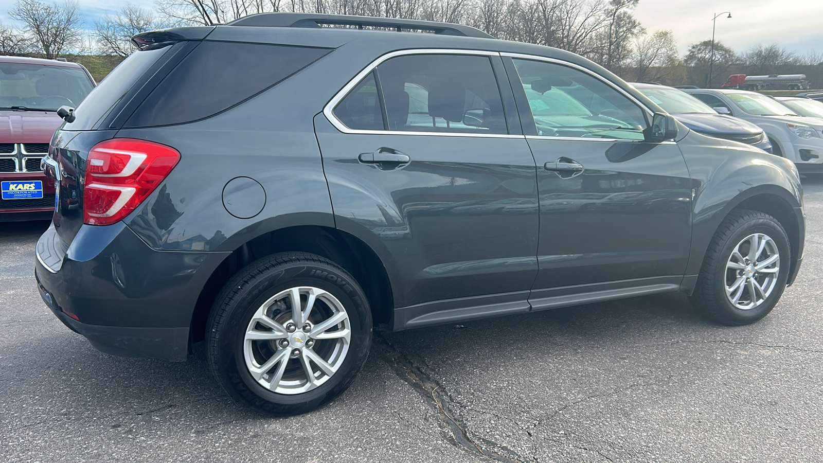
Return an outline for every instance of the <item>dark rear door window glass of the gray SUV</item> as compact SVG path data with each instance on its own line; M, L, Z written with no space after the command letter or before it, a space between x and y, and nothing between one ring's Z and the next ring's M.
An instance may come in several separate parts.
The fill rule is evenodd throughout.
M378 83L379 96L370 87ZM378 106L374 106L378 105ZM353 109L359 110L358 119ZM383 112L384 110L384 112ZM411 54L388 59L334 109L350 129L398 132L508 133L488 56ZM385 121L383 120L385 118Z

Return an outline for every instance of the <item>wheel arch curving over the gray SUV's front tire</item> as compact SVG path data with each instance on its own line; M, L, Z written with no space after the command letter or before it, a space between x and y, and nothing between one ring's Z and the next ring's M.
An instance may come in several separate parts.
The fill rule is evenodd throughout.
M686 275L696 275L700 273L706 250L709 243L717 233L723 220L732 211L737 209L749 209L767 213L774 217L788 235L789 245L792 252L792 267L797 265L797 253L802 249L800 224L797 222L797 215L794 208L799 208L800 203L788 189L779 185L757 185L737 194L723 208L716 212L708 212L707 217L701 219L695 217L693 222L692 246L690 259ZM706 208L709 209L709 208ZM701 223L703 222L703 223ZM793 273L790 273L793 274ZM688 289L690 291L690 288Z

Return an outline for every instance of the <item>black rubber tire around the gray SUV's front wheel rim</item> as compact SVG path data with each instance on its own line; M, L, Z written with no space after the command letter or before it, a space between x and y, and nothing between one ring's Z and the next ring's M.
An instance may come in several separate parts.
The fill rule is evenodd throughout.
M726 265L732 251L746 236L764 233L777 246L779 271L774 289L759 306L743 310L729 301L726 295L728 278ZM791 248L788 236L780 223L769 214L750 210L732 211L714 234L700 269L695 292L691 302L695 310L721 325L748 325L765 317L777 304L786 288L788 267L791 262ZM733 274L732 274L733 279Z

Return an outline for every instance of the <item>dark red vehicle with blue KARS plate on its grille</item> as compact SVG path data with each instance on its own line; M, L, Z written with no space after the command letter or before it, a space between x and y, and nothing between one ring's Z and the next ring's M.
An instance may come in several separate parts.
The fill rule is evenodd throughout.
M0 56L0 222L48 219L53 180L40 168L60 106L77 107L95 87L78 63Z

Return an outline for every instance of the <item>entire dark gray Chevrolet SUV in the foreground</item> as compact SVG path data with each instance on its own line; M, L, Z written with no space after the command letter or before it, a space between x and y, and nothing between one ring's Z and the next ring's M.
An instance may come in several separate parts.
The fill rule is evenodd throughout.
M800 266L791 161L691 132L577 55L282 13L133 40L60 111L40 294L106 353L205 341L254 409L332 400L374 326L677 291L744 325Z

